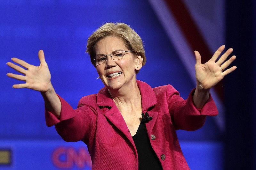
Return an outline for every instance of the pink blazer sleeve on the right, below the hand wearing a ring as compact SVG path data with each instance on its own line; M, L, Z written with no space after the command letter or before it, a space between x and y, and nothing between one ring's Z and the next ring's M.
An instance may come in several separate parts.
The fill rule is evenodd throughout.
M188 99L184 100L171 85L166 86L168 108L176 129L196 130L204 125L206 116L218 115L218 109L211 94L204 106L198 109L193 101L194 92L195 89L190 92Z

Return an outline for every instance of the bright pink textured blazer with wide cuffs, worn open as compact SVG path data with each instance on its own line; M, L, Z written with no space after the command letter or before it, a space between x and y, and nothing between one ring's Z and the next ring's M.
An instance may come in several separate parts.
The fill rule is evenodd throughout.
M206 115L217 115L212 97L202 109L197 109L193 104L194 90L187 100L183 100L171 85L152 89L145 82L137 80L137 84L142 111L153 118L146 123L146 128L163 169L189 169L175 130L199 129L204 125ZM46 110L46 124L55 125L65 141L82 140L91 155L92 170L138 169L138 154L132 136L106 87L98 94L83 97L75 110L61 97L60 101L60 120Z

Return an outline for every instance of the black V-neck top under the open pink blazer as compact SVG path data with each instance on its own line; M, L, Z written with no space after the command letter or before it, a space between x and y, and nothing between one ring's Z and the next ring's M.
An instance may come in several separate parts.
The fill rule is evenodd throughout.
M132 139L138 152L139 170L163 170L160 160L157 158L148 139L146 124L144 122L140 122L140 126Z

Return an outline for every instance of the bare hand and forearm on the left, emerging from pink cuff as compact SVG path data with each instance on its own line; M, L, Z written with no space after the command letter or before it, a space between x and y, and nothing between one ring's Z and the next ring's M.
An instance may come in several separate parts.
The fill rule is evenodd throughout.
M47 63L45 62L43 50L38 52L38 57L40 60L39 66L28 64L18 58L12 58L14 63L20 64L25 69L14 63L8 62L8 66L23 75L7 73L7 76L26 82L23 84L13 85L13 88L28 88L41 92L44 98L45 107L60 118L61 102L52 86L51 74Z

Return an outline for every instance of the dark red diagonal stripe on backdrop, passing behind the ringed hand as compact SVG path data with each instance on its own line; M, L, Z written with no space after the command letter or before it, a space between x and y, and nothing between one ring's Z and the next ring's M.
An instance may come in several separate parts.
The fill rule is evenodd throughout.
M190 48L199 51L202 63L206 63L212 57L212 52L204 41L185 4L182 0L165 0L165 2L180 26L183 35L186 37ZM223 100L222 81L215 85L214 89L220 99Z

